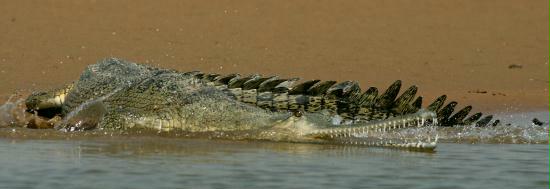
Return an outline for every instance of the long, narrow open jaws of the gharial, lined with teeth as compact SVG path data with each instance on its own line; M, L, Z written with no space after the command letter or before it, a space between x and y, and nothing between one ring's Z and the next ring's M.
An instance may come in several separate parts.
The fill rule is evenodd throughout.
M438 140L436 125L434 112L419 111L362 124L302 129L302 136L319 139L319 143L433 151Z

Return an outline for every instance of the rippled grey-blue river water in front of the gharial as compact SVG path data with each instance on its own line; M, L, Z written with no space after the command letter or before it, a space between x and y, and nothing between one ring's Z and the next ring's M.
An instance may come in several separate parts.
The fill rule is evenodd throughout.
M548 188L544 144L435 153L162 137L0 139L0 188Z

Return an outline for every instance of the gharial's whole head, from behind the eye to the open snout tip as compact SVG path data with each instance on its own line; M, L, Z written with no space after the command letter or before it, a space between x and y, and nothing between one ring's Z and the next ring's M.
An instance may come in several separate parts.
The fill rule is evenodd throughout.
M318 115L292 116L261 132L261 139L405 148L432 151L437 145L437 115L421 110L368 123L331 125Z

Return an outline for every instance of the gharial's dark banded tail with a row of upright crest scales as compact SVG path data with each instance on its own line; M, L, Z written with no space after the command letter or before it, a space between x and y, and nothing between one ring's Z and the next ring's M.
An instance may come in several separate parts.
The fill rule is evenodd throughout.
M319 112L326 110L332 114L338 114L346 120L369 121L415 113L422 108L422 97L415 98L418 91L417 86L410 86L399 95L402 86L400 80L392 83L378 95L376 87L370 87L362 93L356 81L338 83L330 80L306 80L298 82L299 78L281 79L277 76L263 77L259 74L244 77L239 74L225 76L207 74L197 78L224 90L236 100L273 111ZM446 98L446 95L442 95L426 107L426 109L437 113L440 124L453 126L476 123L478 126L485 126L491 121L491 119L488 121L485 119L478 123L481 115L477 114L466 118L472 109L471 106L453 114L457 103L451 102L445 105Z

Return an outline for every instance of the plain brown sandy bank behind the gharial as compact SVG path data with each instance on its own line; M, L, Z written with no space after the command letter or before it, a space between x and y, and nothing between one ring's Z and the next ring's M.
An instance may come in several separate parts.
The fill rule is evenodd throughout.
M401 79L474 110L549 108L546 0L44 0L0 11L0 103L120 57L364 88Z

